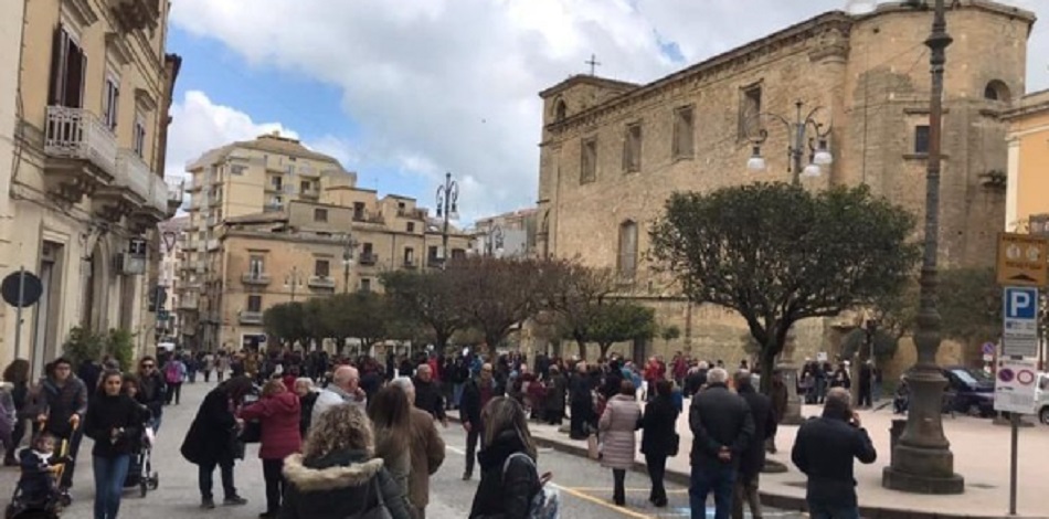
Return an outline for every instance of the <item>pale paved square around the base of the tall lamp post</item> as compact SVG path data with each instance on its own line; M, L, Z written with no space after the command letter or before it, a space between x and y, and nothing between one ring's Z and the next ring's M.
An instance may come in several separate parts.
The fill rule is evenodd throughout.
M688 405L689 401L686 401ZM819 406L806 405L806 416L820 412ZM453 413L454 414L454 413ZM878 460L871 465L856 464L857 491L860 512L865 518L1006 518L1009 506L1009 427L994 425L990 420L944 416L943 424L954 453L954 469L965 477L965 492L957 496L926 496L888 490L881 486L882 469L889 465L889 426L894 417L889 409L860 412L878 449ZM558 427L531 423L537 442L586 456L586 442L570 439ZM667 460L667 477L687 481L688 454L692 434L688 427L688 410L678 419L681 452ZM790 467L784 474L762 474L762 500L777 508L805 508L805 476L791 463L791 447L797 426L780 426L776 435L778 453L771 459ZM638 432L638 445L640 432ZM1020 428L1017 511L1025 518L1049 518L1046 495L1049 486L1049 427L1036 425ZM593 462L597 463L597 462ZM644 470L644 456L636 463Z

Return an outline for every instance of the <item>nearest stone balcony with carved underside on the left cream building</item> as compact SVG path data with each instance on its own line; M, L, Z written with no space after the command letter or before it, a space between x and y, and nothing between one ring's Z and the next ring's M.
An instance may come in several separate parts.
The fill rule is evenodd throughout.
M47 191L65 202L80 203L116 176L116 138L83 108L47 107L44 153Z

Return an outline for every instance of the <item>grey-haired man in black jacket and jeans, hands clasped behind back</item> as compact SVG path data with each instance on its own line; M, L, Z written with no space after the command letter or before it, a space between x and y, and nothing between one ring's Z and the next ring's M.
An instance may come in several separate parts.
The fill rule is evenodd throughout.
M714 368L707 389L692 396L692 474L688 489L692 517L706 517L707 495L714 494L714 519L728 519L740 459L754 437L754 417L742 396L729 391L729 373Z

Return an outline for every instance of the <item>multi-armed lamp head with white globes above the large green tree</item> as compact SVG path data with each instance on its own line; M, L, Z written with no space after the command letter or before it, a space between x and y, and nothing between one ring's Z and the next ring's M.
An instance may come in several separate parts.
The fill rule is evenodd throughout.
M802 183L802 177L819 177L820 167L830 166L834 162L834 156L830 155L830 148L828 146L831 128L828 125L827 129L824 130L824 124L816 120L816 114L823 108L817 106L809 112L808 115L804 115L804 103L798 100L794 106L797 108L794 123L787 120L786 117L772 113L757 114L756 118L759 121L762 117L778 120L786 126L788 135L792 135L793 140L790 146L787 146L787 156L791 159L787 166L787 172L793 173L794 184L798 186ZM809 129L813 130L815 137L808 137ZM750 160L746 161L746 169L751 171L765 170L766 165L764 157L761 155L761 147L767 139L769 131L764 128L759 128L757 135L751 138L751 142L754 145L754 151ZM808 148L809 160L807 166L802 166L805 159L806 148Z

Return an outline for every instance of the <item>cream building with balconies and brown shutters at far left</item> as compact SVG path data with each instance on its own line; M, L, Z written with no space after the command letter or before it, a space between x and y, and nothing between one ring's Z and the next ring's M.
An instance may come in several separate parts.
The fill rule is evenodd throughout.
M12 19L13 4L24 12ZM162 172L180 64L165 51L168 8L167 0L33 0L0 9L4 27L17 21L23 30L21 47L4 43L0 54L0 66L17 63L14 76L0 77L17 77L19 99L13 160L0 157L13 163L0 194L10 197L0 202L3 269L24 267L43 285L23 315L21 345L7 342L15 325L7 311L0 360L30 358L39 373L74 326L125 328L142 348L151 337L145 306L159 261L156 224L181 203ZM0 88L0 106L12 95Z

